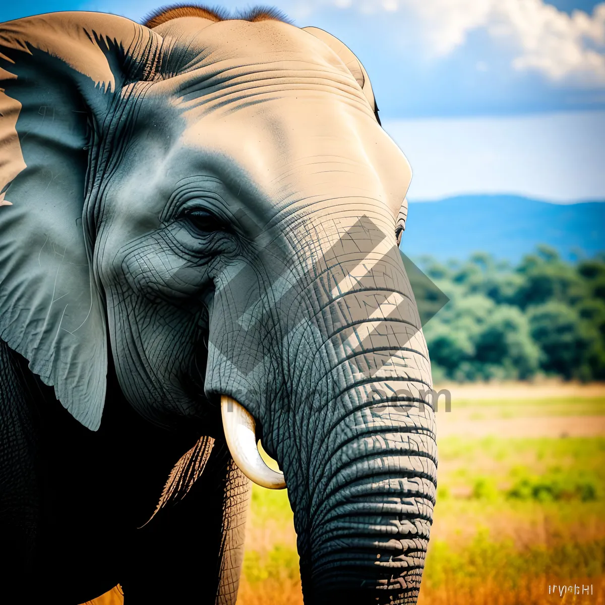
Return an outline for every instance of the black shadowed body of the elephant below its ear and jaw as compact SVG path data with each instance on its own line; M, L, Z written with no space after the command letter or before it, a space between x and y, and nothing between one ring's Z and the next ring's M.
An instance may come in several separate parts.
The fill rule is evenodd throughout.
M10 460L2 457L0 535L10 553L3 598L40 603L54 595L58 603L77 604L120 583L127 603L214 603L223 541L243 545L245 511L237 527L229 527L223 511L237 511L249 491L246 477L229 466L229 451L213 448L187 497L145 525L175 460L197 436L142 419L111 369L105 416L93 433L25 359L0 346L2 443L18 435L28 444ZM195 558L193 545L199 545ZM233 563L237 568L241 556ZM237 583L222 590L229 602Z

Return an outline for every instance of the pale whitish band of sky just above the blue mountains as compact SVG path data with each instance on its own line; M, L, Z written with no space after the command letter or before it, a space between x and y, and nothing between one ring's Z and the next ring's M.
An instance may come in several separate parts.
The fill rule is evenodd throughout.
M604 110L388 120L384 126L412 165L412 201L501 193L555 203L605 200Z

